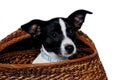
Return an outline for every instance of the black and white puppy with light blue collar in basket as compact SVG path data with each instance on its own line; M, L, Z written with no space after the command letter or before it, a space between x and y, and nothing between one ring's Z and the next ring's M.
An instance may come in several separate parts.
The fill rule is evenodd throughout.
M33 38L41 38L41 53L33 63L68 60L76 53L76 31L81 28L86 14L90 11L77 10L68 18L54 18L49 21L32 20L21 26Z

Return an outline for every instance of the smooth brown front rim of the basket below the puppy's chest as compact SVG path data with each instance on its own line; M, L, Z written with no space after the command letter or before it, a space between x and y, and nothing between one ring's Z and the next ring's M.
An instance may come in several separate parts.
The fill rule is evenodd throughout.
M83 58L78 59L72 59L72 60L66 60L62 62L51 62L51 63L37 63L37 64L0 64L0 67L3 68L26 68L26 67L42 67L42 66L54 66L54 65L61 65L66 63L74 63L74 62L82 62L84 60L89 60L97 56L97 52L94 52L92 55L85 56Z

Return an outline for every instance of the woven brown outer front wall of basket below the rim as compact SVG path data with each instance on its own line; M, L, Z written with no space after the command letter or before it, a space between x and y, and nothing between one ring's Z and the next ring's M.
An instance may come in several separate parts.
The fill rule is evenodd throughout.
M102 64L98 59L98 56L96 56L94 59L90 59L88 61L71 62L69 64L25 68L0 68L0 76L3 80L106 80L105 73L102 68Z

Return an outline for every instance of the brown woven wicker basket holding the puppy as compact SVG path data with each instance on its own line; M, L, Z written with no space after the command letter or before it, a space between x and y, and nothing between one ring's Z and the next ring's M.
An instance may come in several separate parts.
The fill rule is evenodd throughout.
M107 80L91 39L76 32L77 53L62 62L31 64L40 53L40 38L21 29L0 41L0 80Z

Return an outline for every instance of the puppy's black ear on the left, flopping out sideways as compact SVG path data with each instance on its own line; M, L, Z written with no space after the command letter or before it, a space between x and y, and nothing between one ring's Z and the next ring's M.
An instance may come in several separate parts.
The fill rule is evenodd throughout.
M44 26L44 21L32 20L21 26L22 30L31 34L32 37L37 37L41 34L42 28Z

